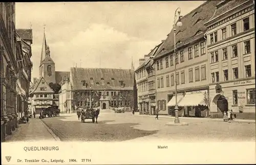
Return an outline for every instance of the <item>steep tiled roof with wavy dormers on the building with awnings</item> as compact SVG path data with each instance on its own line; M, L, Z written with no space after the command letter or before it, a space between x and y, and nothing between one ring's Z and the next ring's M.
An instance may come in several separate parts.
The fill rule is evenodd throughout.
M204 23L208 21L215 12L216 5L221 1L207 1L200 5L195 10L191 11L187 15L181 17L182 26L176 27L176 44L177 43L187 43L190 38L197 38L197 35L202 35L206 32L206 26ZM181 13L182 14L182 13ZM178 47L179 45L177 45ZM166 40L159 47L157 55L154 59L161 57L164 53L174 47L174 30L168 34ZM160 54L159 54L160 53Z

